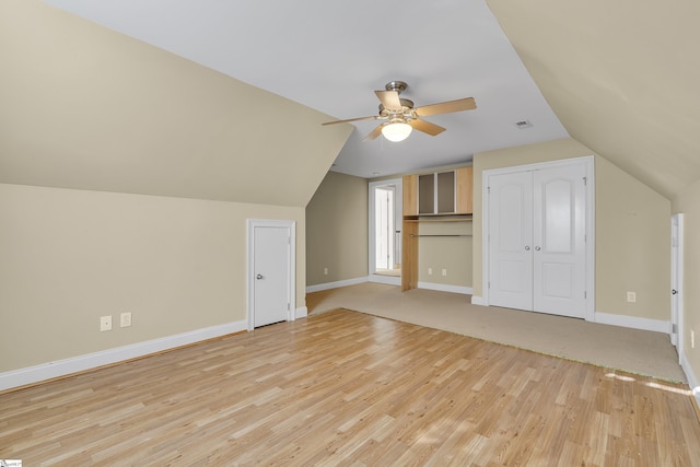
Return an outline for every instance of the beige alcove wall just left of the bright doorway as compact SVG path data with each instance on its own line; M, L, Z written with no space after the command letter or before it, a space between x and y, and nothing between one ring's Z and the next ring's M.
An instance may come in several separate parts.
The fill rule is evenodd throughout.
M306 207L306 284L368 276L368 180L328 172ZM328 275L324 275L328 268Z

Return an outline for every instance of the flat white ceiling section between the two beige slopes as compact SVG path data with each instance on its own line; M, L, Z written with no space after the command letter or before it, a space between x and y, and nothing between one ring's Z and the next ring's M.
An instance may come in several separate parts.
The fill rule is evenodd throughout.
M373 91L393 80L416 106L476 100L427 117L447 129L436 137L363 142L377 122L353 124L336 172L407 173L568 136L482 0L46 1L338 119L375 115Z

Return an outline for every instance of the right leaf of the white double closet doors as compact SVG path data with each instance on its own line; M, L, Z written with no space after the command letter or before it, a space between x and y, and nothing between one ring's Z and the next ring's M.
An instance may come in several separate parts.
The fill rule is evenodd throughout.
M583 318L586 313L583 165L535 171L534 310Z

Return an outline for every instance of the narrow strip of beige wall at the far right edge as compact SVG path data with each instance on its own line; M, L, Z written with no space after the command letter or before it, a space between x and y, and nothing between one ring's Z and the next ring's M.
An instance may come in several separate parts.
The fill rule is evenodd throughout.
M696 377L700 377L700 180L691 184L674 199L673 212L684 214L684 353ZM696 348L690 347L695 330ZM700 389L700 388L699 388ZM700 396L698 394L696 397Z

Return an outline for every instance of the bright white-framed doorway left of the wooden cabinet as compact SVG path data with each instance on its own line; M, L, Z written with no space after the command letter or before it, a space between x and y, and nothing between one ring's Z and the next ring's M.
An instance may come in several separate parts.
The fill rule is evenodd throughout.
M370 280L400 284L401 276L400 178L370 183Z

